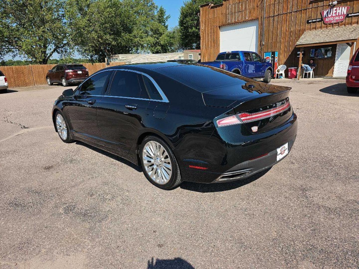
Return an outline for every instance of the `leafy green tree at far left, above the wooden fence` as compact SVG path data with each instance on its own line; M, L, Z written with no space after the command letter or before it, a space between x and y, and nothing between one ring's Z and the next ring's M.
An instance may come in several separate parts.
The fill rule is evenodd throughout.
M0 58L24 56L46 64L68 51L65 0L1 0Z

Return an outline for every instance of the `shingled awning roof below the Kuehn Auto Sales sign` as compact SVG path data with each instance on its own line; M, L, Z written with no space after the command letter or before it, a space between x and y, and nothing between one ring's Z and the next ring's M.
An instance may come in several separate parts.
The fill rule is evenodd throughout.
M295 44L296 47L308 47L320 44L355 42L359 37L359 25L306 31Z

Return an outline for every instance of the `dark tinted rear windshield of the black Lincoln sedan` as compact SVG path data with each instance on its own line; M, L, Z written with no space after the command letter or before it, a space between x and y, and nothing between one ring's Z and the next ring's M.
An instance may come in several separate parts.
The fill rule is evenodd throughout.
M202 93L232 84L241 86L245 80L231 72L200 64L166 67L155 71Z

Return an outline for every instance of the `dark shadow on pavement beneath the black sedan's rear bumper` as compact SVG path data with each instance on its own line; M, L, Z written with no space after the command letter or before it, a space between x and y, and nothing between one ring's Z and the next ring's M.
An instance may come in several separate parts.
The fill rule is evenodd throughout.
M272 167L270 167L266 170L263 170L255 175L250 176L249 178L240 179L237 181L232 181L232 182L227 182L227 183L206 184L206 183L196 183L196 182L184 181L180 185L180 188L185 189L185 190L191 190L193 192L202 192L202 193L224 192L226 190L232 190L232 189L242 187L244 185L247 185L248 183L251 183L251 182L257 180L261 176L264 176L271 168Z

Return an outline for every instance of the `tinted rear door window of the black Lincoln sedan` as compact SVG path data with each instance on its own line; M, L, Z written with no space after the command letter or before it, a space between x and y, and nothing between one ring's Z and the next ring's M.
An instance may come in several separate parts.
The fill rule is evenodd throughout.
M141 87L137 73L131 71L116 71L113 77L109 95L139 98Z

